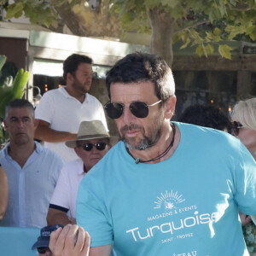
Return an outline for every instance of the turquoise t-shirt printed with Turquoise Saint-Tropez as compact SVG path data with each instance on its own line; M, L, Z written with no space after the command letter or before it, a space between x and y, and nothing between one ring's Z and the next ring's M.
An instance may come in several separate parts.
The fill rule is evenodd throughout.
M248 255L238 209L256 214L256 164L222 131L176 123L180 143L156 164L136 164L120 142L79 186L77 222L91 247L119 256Z

